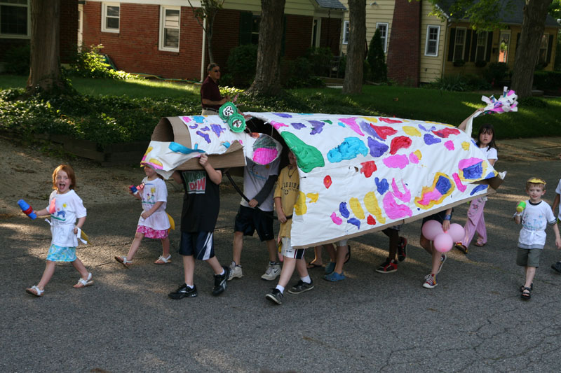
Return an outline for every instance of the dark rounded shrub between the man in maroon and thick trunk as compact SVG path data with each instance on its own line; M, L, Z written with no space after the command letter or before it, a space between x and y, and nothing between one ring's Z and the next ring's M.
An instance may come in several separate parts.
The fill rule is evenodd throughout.
M257 45L244 44L230 51L228 56L228 74L236 87L249 87L255 78L257 66Z

